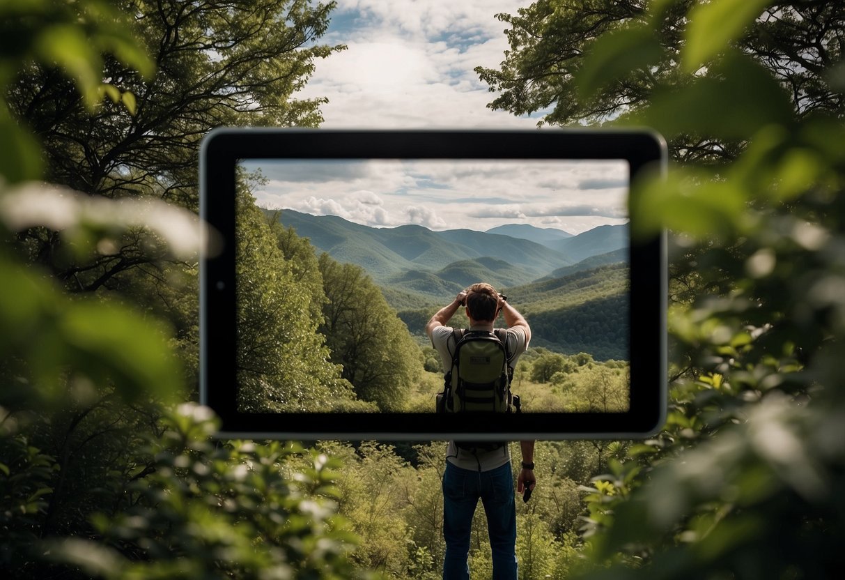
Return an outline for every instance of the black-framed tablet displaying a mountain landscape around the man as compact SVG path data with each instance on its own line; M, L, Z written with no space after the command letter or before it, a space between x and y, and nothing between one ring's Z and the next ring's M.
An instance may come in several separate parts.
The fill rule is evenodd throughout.
M666 243L632 238L629 208L666 158L649 130L210 132L200 214L223 243L200 264L199 397L218 435L654 434ZM519 412L436 411L451 361L425 326L474 282L531 326L510 387ZM466 325L462 308L447 324Z

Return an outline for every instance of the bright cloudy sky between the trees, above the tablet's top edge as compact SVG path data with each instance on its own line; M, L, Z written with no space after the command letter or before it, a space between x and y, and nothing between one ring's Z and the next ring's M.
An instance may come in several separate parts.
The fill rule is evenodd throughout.
M507 48L495 14L514 0L341 0L327 43L346 51L318 61L300 96L328 97L325 128L536 126L492 111L473 68L497 67Z

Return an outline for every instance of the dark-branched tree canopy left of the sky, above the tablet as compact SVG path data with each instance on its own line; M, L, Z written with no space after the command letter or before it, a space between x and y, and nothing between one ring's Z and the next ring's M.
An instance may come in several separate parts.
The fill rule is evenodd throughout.
M103 81L86 87L85 99L63 68L52 64L54 57L64 63L57 57L61 48L19 69L5 97L14 118L41 143L45 178L87 194L151 197L193 210L203 135L223 125L317 126L324 100L294 94L313 72L314 59L343 48L316 41L334 3L121 0L108 8L94 2L36 6L60 8L83 23L102 12L109 18L125 14L123 36L109 30L94 38L101 47L117 47L117 55L134 57L98 60L102 70L88 75ZM74 43L68 46L74 48L68 54L75 49L99 59L84 44L84 30L59 32L46 29L45 42L52 38L50 46L61 47L69 35ZM133 45L144 52L130 52ZM136 57L144 53L150 56ZM92 91L116 101L91 101ZM73 291L95 291L128 269L166 257L129 240L117 244L116 252L79 260L63 252L60 238L50 231L30 228L20 238L31 259Z

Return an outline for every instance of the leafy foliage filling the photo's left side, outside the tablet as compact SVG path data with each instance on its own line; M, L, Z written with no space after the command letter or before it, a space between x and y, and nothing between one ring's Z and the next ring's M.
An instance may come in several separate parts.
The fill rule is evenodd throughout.
M3 3L3 178L40 177L41 151L32 129L46 147L48 178L114 197L172 198L176 190L189 197L196 138L209 129L204 123L225 117L203 112L235 111L230 96L240 100L243 114L264 113L267 120L274 107L301 113L314 106L286 107L290 91L277 90L265 94L272 102L259 110L244 92L226 88L232 77L226 80L224 71L232 63L240 66L234 71L237 82L255 80L243 66L269 56L255 49L262 38L270 40L271 24L271 36L287 34L272 12L283 4L272 4L160 3L148 9L125 3L128 14L141 15L128 21L95 0ZM287 25L303 30L308 19L319 25L330 8L312 13L305 3L284 6L291 8ZM258 20L239 19L242 10ZM193 35L190 26L184 28L190 19ZM155 22L166 25L156 29ZM256 22L266 27L252 26ZM226 25L244 27L232 41L233 58L210 59L204 50L209 46L192 44ZM139 42L139 30L150 36ZM156 30L168 41L161 42ZM235 54L239 38L252 39L252 54ZM151 59L137 48L144 41L162 51L155 80L133 72L152 74ZM226 52L217 48L218 56ZM297 52L286 63L308 63L320 50ZM101 58L101 51L108 54ZM265 74L284 60L264 63L256 72ZM191 91L199 87L181 82L180 74L209 72L202 63L222 67L206 79L222 81L216 103L211 93L204 104L193 101ZM102 84L104 70L119 88ZM281 82L297 86L307 71L286 68ZM167 78L171 81L162 83ZM148 91L154 86L161 99L175 99L169 112L154 106L155 91ZM126 92L128 87L134 92ZM258 92L260 84L250 87ZM101 104L102 96L119 103ZM117 142L109 141L115 135ZM173 165L156 165L154 158ZM189 179L180 181L184 178ZM190 282L199 249L197 230L189 221L173 222L174 216L182 214L161 203L117 204L37 184L10 189L0 182L5 577L367 577L349 559L355 539L336 515L330 486L335 462L279 443L220 444L210 437L215 420L207 409L174 408L173 402L187 396L185 380L192 375L173 353L192 352L196 298ZM194 262L156 263L175 254L172 248L159 253L180 241L166 235L174 224L187 224L182 254ZM261 238L259 231L254 227L255 238ZM272 234L268 239L275 243ZM183 277L187 286L168 286ZM117 292L108 298L67 292L104 287ZM162 313L178 335L157 318Z

